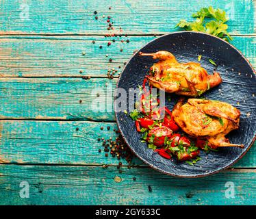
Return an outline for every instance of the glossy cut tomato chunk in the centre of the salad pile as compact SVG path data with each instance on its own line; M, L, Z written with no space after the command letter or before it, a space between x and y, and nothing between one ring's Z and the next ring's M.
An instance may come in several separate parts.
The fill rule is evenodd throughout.
M151 136L155 136L153 139L153 144L155 144L155 146L164 146L164 140L166 137L170 138L170 136L172 136L172 130L164 125L162 125L162 127L153 127L153 129L149 131L146 140L151 140Z

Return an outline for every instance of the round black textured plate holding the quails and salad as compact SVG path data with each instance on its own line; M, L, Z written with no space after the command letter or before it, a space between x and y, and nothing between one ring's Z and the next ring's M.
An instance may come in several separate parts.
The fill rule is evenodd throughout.
M180 31L167 34L156 38L140 49L144 53L154 53L160 50L170 51L179 62L199 62L198 56L202 55L200 63L209 74L212 74L215 68L209 63L209 59L216 62L217 72L222 77L222 83L202 96L207 99L225 101L240 110L240 128L231 131L227 138L231 143L244 144L244 149L226 147L208 155L201 151L202 159L194 166L176 159L170 161L148 149L146 143L140 142L141 134L136 131L134 121L127 114L116 112L116 120L123 138L131 150L146 164L168 175L203 177L233 165L244 156L255 140L255 70L242 53L231 44L220 38L199 32ZM145 66L150 67L157 62L151 57L141 57L138 52L131 57L117 83L117 88L124 88L127 93L129 88L138 88L142 85L144 75L148 70ZM166 105L172 110L179 96L167 93L166 95L172 99L169 102L166 96Z

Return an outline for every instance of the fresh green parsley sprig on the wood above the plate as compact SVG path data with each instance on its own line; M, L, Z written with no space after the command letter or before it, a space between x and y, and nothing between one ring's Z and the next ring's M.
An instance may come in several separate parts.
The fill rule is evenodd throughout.
M227 41L233 40L227 31L228 25L225 24L229 21L229 17L226 15L226 12L220 8L214 9L212 6L209 6L209 8L201 8L199 12L192 14L192 17L196 18L196 20L193 22L181 20L176 27L212 34ZM212 21L206 23L205 18L212 19Z

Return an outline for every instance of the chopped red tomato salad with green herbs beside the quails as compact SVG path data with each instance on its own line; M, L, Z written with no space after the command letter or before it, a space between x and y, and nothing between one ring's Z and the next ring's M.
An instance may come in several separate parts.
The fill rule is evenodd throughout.
M147 142L160 156L171 159L177 157L179 161L196 164L200 160L199 149L209 150L207 140L197 139L196 142L184 136L167 107L159 107L159 99L146 90L146 79L143 81L140 101L136 102L136 109L130 116L135 120L136 129L143 133L142 142ZM190 162L188 160L191 160Z

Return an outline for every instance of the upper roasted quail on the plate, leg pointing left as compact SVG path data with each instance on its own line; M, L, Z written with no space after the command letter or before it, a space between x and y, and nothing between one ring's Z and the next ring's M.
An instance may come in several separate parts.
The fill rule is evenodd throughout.
M184 96L200 96L222 82L218 73L208 75L205 68L196 62L179 63L168 51L139 54L152 56L153 59L159 60L153 64L150 75L146 77L152 86L165 92Z

